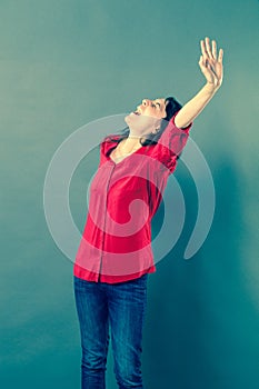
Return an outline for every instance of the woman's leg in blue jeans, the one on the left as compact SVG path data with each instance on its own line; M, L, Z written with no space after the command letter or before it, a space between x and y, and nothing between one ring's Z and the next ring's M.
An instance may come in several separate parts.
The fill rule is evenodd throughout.
M73 280L82 347L81 388L104 389L109 346L107 295L100 282L77 277Z

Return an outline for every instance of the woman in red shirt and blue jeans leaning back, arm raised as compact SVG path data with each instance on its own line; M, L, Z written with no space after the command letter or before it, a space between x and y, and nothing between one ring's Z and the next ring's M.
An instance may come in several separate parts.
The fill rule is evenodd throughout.
M106 387L111 330L120 389L143 388L141 339L148 273L155 272L150 223L192 126L222 83L222 49L201 40L206 84L183 107L173 98L145 99L128 128L101 143L89 213L74 263L82 389Z

